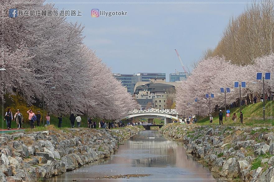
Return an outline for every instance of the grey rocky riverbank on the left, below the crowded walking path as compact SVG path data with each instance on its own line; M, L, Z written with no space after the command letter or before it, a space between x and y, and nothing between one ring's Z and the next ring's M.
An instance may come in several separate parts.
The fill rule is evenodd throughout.
M107 158L141 127L73 128L2 134L0 181L35 181Z

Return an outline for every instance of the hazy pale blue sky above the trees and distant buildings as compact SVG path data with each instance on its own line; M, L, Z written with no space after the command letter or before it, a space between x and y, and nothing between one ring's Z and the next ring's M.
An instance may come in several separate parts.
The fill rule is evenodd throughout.
M220 41L232 16L243 4L76 4L57 3L64 10L80 10L80 17L67 21L84 25L84 43L113 73L183 72L183 64L201 59L207 48ZM92 17L91 10L126 11L126 16Z

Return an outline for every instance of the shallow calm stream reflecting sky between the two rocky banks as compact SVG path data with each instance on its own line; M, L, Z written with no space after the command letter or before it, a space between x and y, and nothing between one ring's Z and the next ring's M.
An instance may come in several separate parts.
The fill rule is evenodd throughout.
M60 181L61 179L72 181L75 178L86 178L87 180L102 176L128 174L149 174L150 176L115 181L132 179L141 181L154 181L153 179L158 179L157 181L170 181L172 179L205 181L209 178L210 181L215 181L209 169L195 162L191 154L185 153L182 145L165 138L158 131L140 131L137 135L124 141L119 149L111 154L110 158L101 159L73 171L65 172L50 181Z

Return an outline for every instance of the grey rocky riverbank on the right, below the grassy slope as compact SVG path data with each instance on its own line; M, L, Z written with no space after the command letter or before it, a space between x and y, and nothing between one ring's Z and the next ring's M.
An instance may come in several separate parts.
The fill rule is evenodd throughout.
M199 163L225 181L274 181L272 127L182 125L159 132L185 144Z

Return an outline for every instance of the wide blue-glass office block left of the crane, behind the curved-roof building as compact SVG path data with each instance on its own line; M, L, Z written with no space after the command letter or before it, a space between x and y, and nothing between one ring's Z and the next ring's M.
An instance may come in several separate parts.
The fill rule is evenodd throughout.
M137 74L120 74L114 73L114 78L121 81L122 85L127 88L130 94L134 94L135 83L150 82L150 79L166 79L166 73L137 73Z

